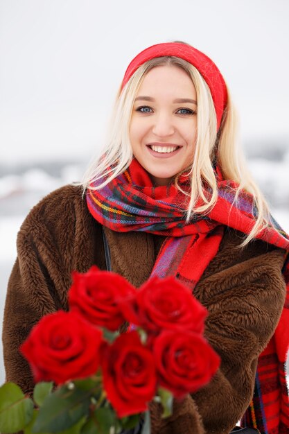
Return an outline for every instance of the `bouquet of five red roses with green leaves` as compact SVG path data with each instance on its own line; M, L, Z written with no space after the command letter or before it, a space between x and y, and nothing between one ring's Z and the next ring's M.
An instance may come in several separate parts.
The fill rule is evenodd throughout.
M14 383L0 388L1 433L117 434L140 420L150 433L150 401L167 417L173 397L195 392L218 369L203 336L206 315L174 277L137 290L96 266L73 272L69 312L44 316L20 348L33 397Z

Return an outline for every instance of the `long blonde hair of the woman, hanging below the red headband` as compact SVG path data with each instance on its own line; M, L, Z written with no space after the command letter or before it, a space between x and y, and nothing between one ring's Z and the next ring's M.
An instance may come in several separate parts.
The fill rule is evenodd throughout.
M96 162L93 162L87 169L82 180L83 189L85 191L91 182L101 179L105 174L105 181L97 187L89 186L92 189L102 188L120 173L123 173L132 162L130 119L134 98L148 71L164 65L179 67L186 71L195 86L198 101L195 154L191 167L186 168L186 173L188 173L189 169L188 175L191 177L191 191L190 193L184 192L190 196L189 206L186 209L186 220L189 221L193 213L207 214L216 204L218 186L214 164L218 162L222 177L225 180L233 180L238 184L238 188L234 190L234 201L238 201L238 196L242 189L252 193L254 198L253 207L256 208L254 215L257 217L254 227L241 244L244 246L261 229L268 226L268 205L259 187L252 180L245 164L243 153L238 147L236 139L236 111L231 103L229 92L227 106L222 116L220 129L217 132L216 111L209 87L198 69L193 67L189 62L186 62L186 60L166 56L148 60L148 62L143 63L134 72L125 87L119 90L112 114L110 137L107 138L101 157L98 157ZM109 170L107 169L108 167L110 167ZM175 177L175 185L182 191L181 186L178 184L179 175L181 174ZM209 198L204 193L207 191L207 189L204 189L204 184L209 186ZM203 205L197 205L198 198L202 198Z

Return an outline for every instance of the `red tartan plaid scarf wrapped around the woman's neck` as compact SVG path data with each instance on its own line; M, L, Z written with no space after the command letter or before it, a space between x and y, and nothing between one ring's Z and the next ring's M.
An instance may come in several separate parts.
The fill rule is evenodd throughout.
M98 186L101 182L103 180L98 180L91 186ZM184 191L189 192L186 177L182 177L179 183ZM243 192L234 202L236 186L234 182L219 180L218 200L213 209L206 216L193 215L190 222L186 223L184 209L189 198L172 185L152 186L148 173L134 159L127 171L105 187L89 189L87 205L99 223L115 231L166 235L152 275L174 275L193 290L218 252L224 227L229 226L248 234L254 225L252 196ZM289 251L288 236L277 223L264 229L256 238ZM243 417L244 426L258 428L264 434L289 433L286 384L289 346L288 252L283 275L288 284L286 302L274 336L259 356L254 397Z

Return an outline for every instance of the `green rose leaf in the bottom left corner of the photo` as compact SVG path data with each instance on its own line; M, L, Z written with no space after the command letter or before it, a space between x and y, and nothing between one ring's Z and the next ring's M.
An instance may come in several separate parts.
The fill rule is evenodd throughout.
M0 388L0 431L17 433L33 417L33 401L26 398L18 385L6 383Z

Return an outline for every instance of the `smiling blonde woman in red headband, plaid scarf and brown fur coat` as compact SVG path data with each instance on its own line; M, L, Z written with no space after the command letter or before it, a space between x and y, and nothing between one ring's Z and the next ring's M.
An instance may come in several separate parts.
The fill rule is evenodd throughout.
M220 71L188 44L151 46L128 66L113 119L83 188L54 191L20 229L7 379L32 390L18 348L42 315L67 309L72 270L110 264L135 286L175 275L207 307L205 335L222 363L169 419L151 404L152 433L229 433L242 417L261 433L289 433L289 241L237 152Z

